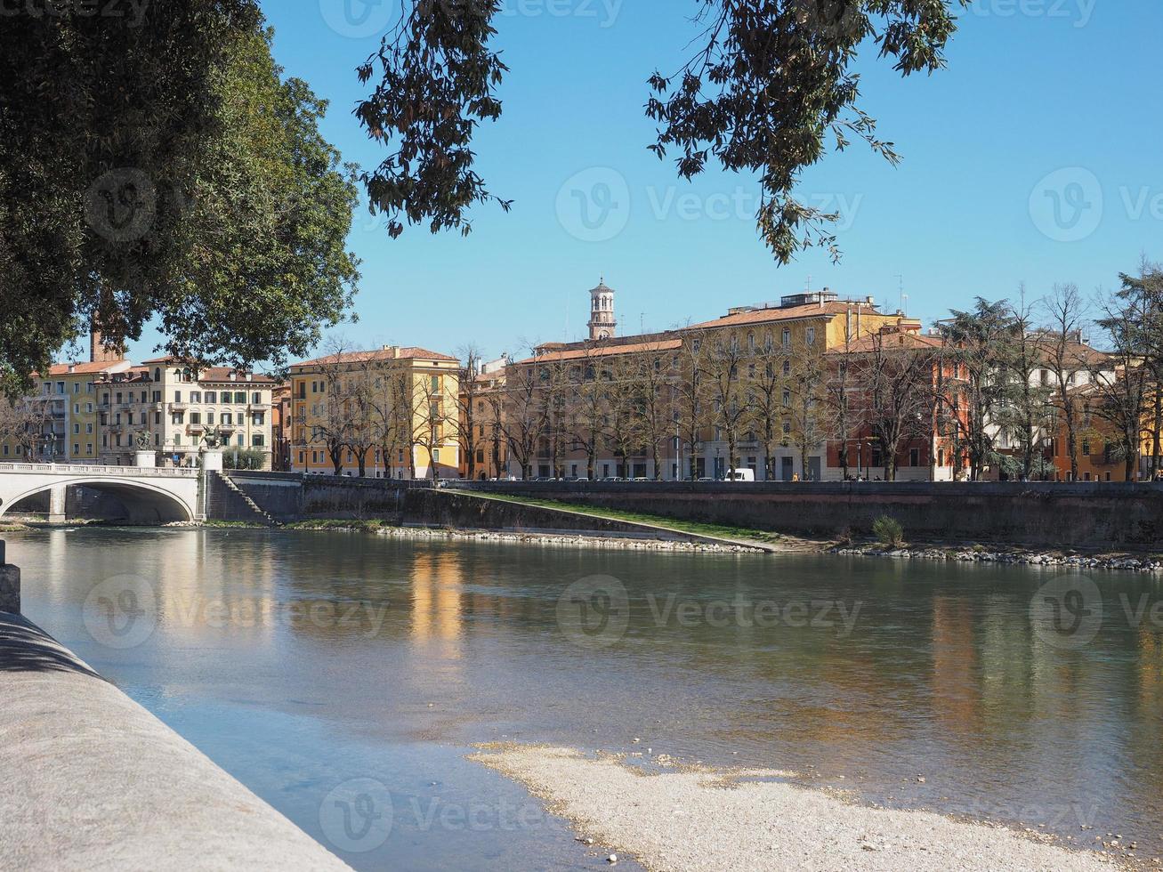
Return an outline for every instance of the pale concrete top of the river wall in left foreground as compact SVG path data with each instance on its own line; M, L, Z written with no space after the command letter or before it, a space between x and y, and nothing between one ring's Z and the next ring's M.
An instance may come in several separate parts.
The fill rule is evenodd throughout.
M348 869L12 614L0 614L0 869Z

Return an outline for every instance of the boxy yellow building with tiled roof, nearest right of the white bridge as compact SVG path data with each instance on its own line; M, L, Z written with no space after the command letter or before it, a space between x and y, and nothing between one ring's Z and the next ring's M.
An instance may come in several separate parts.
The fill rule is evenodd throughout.
M459 360L415 346L291 366L291 469L373 478L457 478Z

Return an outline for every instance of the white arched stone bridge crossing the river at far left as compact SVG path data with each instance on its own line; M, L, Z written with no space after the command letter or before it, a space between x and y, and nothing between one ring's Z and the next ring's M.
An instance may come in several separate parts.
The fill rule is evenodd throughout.
M69 488L86 488L117 500L131 523L205 519L195 469L0 463L0 519L22 501L48 494L49 521L66 520ZM29 506L27 510L33 510Z

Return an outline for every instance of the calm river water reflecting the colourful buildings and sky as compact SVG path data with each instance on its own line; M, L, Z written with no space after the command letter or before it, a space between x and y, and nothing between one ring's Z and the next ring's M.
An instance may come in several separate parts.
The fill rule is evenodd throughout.
M31 620L357 869L604 865L464 759L481 742L789 770L1163 851L1150 576L307 531L7 539Z

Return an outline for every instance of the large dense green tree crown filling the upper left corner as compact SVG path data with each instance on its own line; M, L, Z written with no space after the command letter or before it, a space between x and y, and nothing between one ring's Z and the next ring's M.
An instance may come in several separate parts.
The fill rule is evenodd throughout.
M8 391L90 324L157 316L201 363L306 353L357 279L356 188L281 81L254 0L123 17L15 14L0 29L0 373Z

